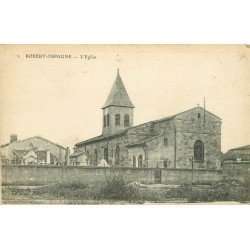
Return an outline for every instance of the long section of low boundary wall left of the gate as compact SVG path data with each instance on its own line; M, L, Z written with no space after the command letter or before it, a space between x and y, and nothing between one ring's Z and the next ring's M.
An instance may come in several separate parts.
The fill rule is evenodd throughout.
M154 183L154 170L146 168L101 168L77 166L2 166L3 185L46 185L52 183L102 184L108 177L123 175L127 181Z

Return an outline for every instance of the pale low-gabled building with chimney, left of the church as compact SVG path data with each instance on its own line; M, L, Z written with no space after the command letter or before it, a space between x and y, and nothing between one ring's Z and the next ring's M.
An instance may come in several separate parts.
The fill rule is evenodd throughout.
M67 162L67 149L40 136L17 140L10 136L10 142L0 147L3 164L64 165Z

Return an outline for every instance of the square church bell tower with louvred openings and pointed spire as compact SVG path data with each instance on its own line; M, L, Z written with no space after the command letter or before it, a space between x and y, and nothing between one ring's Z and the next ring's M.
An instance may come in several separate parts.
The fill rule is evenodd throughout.
M109 135L133 126L134 105L123 85L119 69L113 87L102 107L102 134Z

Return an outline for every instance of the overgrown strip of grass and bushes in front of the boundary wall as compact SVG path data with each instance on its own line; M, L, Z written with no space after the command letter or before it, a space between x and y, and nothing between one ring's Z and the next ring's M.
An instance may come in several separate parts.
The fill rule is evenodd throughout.
M3 204L152 204L249 202L248 187L237 181L199 185L144 185L116 177L104 185L4 186Z

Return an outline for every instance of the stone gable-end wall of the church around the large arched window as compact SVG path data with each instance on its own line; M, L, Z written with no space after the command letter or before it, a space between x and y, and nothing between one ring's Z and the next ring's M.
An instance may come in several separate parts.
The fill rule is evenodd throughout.
M204 143L204 162L193 161L194 168L220 168L221 160L221 121L216 116L195 108L177 115L176 126L176 167L192 168L190 157L194 156L194 143Z

